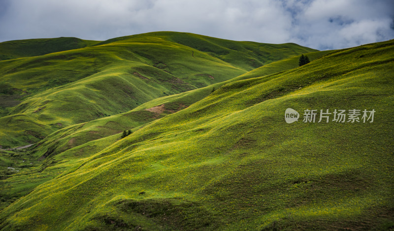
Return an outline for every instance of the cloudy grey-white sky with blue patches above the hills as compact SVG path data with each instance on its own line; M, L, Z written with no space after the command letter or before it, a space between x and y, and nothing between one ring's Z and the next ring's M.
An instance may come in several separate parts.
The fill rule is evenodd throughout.
M394 38L394 0L0 0L0 42L181 31L319 50Z

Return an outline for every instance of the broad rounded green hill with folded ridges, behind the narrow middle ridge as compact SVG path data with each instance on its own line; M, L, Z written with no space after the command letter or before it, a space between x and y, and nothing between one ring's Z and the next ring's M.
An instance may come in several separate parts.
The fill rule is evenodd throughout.
M261 65L313 51L295 44L271 48L270 44L215 40L222 45L238 44L237 51L206 44L209 37L205 36L157 34L0 61L0 72L4 73L0 77L0 144L34 143L60 127L127 112L158 97L229 80L252 70L255 64L248 64L251 58ZM215 46L215 50L205 53L173 41L185 36L201 40L201 46ZM229 56L222 57L222 53Z

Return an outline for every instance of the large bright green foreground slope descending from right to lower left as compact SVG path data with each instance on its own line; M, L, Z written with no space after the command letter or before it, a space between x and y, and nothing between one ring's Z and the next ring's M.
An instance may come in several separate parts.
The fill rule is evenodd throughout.
M92 156L47 168L69 164L2 210L0 227L392 227L393 52L394 41L369 44L226 84ZM289 107L376 114L373 123L287 124Z

